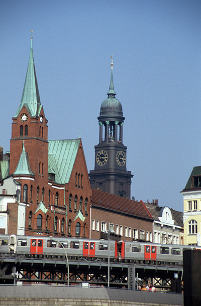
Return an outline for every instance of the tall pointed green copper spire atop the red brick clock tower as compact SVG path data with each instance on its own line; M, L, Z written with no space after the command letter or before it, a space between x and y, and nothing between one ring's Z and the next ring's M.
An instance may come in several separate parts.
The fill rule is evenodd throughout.
M36 70L34 65L34 56L33 56L33 49L32 49L32 40L31 40L31 50L30 50L30 57L29 57L29 64L27 68L27 75L25 78L25 85L22 93L22 99L20 102L20 106L18 107L17 113L14 116L17 117L23 108L26 105L30 116L38 116L40 114L42 105L40 102L39 90L38 90L38 83L36 78Z

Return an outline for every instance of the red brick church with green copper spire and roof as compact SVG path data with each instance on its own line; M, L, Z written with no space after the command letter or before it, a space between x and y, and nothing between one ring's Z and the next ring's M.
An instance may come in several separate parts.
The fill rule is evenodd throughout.
M1 151L0 202L4 195L17 195L11 178L21 188L16 203L5 206L1 232L89 237L91 188L81 138L48 141L47 122L31 39L22 99L13 116L10 157Z

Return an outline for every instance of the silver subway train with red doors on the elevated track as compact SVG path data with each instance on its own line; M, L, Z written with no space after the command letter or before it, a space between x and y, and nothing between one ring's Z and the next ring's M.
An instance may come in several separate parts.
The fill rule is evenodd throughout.
M165 264L182 264L183 250L190 248L193 249L195 246L110 240L110 258L131 263L136 260L146 260ZM201 247L196 246L196 249ZM76 256L94 259L96 257L103 260L109 256L108 240L18 235L0 235L0 253L43 258L67 255L69 258Z

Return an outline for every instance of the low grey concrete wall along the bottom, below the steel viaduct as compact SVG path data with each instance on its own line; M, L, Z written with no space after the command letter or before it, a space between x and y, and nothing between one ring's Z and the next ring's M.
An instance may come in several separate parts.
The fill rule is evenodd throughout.
M167 306L183 305L183 296L107 287L2 285L0 305L37 306Z

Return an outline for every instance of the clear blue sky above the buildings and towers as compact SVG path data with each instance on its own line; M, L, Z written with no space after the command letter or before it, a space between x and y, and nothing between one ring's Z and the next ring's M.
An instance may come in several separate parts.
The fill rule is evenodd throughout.
M1 0L0 145L10 149L33 51L48 139L81 138L94 169L100 105L110 85L126 117L131 195L183 210L200 166L200 0Z

